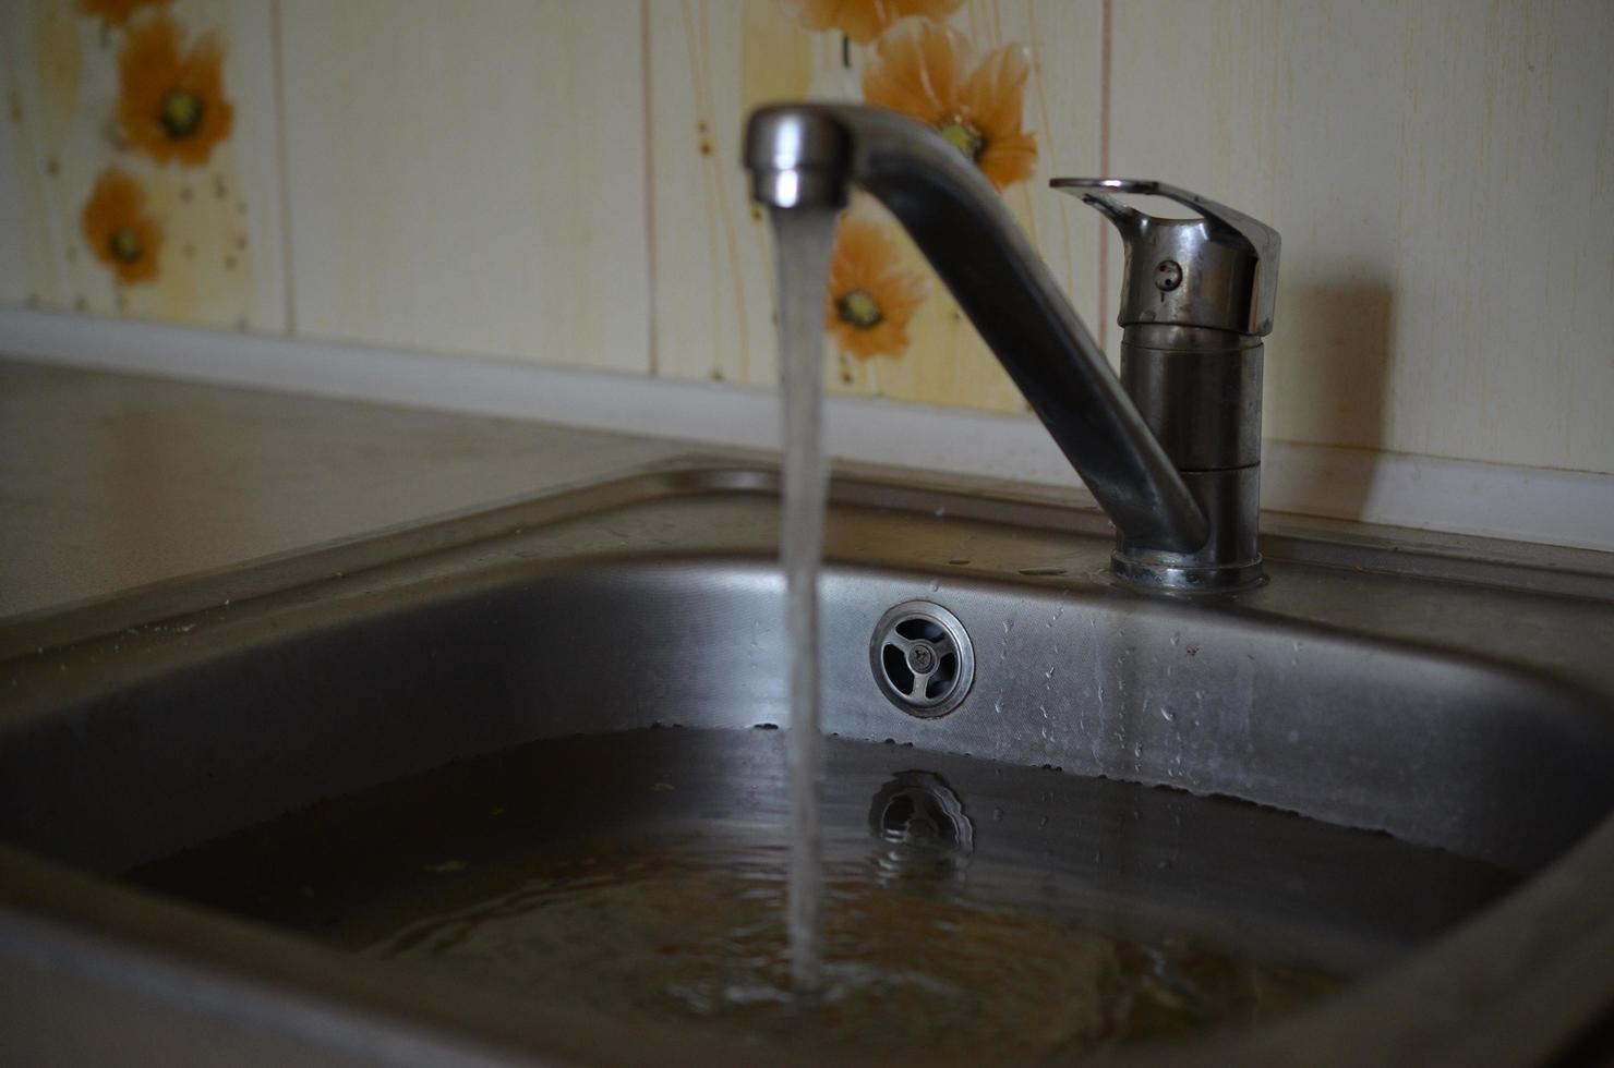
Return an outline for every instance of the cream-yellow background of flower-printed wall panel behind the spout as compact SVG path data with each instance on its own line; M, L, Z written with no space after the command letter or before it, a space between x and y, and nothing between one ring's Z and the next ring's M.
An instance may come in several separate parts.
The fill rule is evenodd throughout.
M878 39L857 44L834 24L812 29L812 6L676 0L647 8L655 339L657 366L668 378L762 386L778 378L771 244L738 166L741 126L754 106L775 100L862 100L865 71L878 60ZM841 8L855 16L880 5ZM954 29L968 56L965 69L1006 47L1025 50L1033 76L1015 95L1036 136L1038 158L1031 181L1009 187L1006 202L1067 294L1091 316L1098 227L1080 205L1060 203L1039 187L1054 174L1098 166L1101 5L1004 0L918 8L957 8L946 23L931 21ZM854 18L851 26L855 32L863 23ZM1018 390L907 236L872 200L860 197L854 211L888 231L896 245L891 268L925 277L928 292L905 323L905 347L859 357L831 344L826 386L894 400L1025 411Z

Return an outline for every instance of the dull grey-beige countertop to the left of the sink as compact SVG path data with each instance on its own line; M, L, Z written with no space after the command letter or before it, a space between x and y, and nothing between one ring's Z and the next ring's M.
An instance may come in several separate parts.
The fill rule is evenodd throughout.
M691 448L0 360L0 620Z

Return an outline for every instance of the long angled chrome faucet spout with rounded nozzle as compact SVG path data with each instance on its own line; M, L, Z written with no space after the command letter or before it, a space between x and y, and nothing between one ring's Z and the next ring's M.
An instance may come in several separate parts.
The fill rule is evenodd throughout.
M1102 350L991 184L935 131L863 106L781 105L752 115L752 195L775 208L881 200L952 290L1120 537L1193 553L1206 516Z

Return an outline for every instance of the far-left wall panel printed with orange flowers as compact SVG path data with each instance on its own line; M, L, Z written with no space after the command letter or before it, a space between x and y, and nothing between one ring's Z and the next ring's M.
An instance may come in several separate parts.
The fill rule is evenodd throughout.
M0 297L286 329L271 15L253 0L0 6ZM165 98L195 106L166 116L181 136Z

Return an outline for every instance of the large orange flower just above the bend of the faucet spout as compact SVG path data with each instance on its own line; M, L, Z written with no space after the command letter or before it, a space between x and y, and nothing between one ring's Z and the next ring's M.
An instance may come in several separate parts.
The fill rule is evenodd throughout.
M1036 136L1020 129L1020 95L1031 74L1025 48L1006 45L970 71L964 34L904 19L880 35L863 73L863 98L941 131L1004 189L1036 169Z

